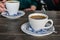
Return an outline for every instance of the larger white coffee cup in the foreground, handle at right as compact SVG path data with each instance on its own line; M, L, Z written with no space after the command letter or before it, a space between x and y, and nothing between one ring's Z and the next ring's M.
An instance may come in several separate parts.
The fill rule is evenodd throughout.
M37 16L37 15L44 16L46 18L43 18L43 19L31 18L32 16ZM43 28L50 28L53 26L53 21L51 19L48 19L48 16L46 14L43 14L43 13L32 13L28 16L28 19L29 19L29 24L31 25L31 27L35 31L38 31L38 30L43 29ZM45 27L47 22L51 22L51 25L48 27Z

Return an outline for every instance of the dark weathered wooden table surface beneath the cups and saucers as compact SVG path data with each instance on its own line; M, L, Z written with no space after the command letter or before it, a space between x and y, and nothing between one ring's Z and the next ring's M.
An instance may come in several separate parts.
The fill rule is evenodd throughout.
M60 40L60 11L47 11L46 14L53 20L57 33L43 37L34 37L21 31L21 25L28 22L28 15L31 13L33 12L26 12L24 16L15 20L0 15L0 40Z

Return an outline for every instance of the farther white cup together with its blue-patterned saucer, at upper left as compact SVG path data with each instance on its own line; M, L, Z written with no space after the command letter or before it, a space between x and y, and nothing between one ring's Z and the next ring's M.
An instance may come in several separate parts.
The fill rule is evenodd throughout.
M25 14L24 11L19 10L19 1L6 1L6 11L2 12L1 15L8 19L17 19Z

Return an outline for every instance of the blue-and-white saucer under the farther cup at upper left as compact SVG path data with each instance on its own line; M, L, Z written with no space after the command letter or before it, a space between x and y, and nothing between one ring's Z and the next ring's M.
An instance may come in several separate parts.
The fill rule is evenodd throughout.
M17 19L17 18L23 16L24 14L25 14L24 11L18 11L18 13L14 14L14 15L9 15L7 11L1 13L2 16L9 18L9 19Z

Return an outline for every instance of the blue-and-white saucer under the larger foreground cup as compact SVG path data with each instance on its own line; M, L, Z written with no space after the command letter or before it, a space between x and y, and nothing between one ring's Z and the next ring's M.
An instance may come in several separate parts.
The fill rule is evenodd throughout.
M46 25L49 25L49 23L46 24ZM24 33L29 34L29 35L32 35L32 36L46 36L46 35L50 35L50 34L52 34L52 33L54 32L54 30L55 30L54 26L52 26L50 29L47 29L47 30L43 29L43 31L40 31L39 33L35 33L35 32L32 32L32 31L30 31L30 30L27 29L29 26L30 26L30 25L29 25L28 22L27 22L27 23L24 23L24 24L21 26L21 30L22 30Z

